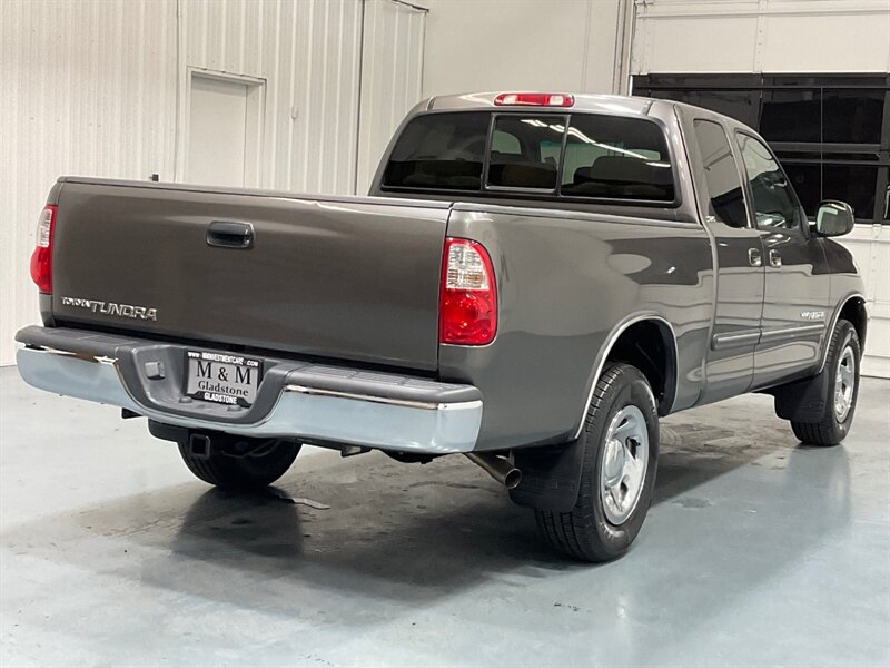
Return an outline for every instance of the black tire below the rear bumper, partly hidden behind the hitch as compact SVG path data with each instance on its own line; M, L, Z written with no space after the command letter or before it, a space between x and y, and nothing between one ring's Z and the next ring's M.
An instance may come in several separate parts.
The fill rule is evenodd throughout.
M236 441L244 443L247 454L235 455L211 450L209 455L195 455L188 444L179 444L186 466L200 480L233 491L256 490L278 480L299 454L299 443L276 439Z

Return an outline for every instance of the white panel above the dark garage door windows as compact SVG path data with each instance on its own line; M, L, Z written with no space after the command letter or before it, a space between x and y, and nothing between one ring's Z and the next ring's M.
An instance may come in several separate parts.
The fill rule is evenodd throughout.
M635 2L635 75L890 70L888 0Z

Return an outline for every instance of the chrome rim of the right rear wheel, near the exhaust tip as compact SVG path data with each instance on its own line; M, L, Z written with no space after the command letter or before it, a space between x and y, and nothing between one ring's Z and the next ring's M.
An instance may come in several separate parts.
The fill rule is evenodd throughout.
M649 468L649 430L643 412L624 406L609 423L600 465L600 498L605 518L624 523L643 493Z

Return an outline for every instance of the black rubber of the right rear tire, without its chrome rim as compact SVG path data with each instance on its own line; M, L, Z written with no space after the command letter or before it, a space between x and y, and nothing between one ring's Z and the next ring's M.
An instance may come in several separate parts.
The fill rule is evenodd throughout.
M613 419L627 406L642 413L649 456L642 490L630 514L620 523L606 517L601 493L601 471L606 435ZM535 511L544 539L555 549L583 561L609 561L622 556L643 525L659 456L659 415L645 376L629 364L607 364L600 375L580 436L584 448L581 489L571 512Z

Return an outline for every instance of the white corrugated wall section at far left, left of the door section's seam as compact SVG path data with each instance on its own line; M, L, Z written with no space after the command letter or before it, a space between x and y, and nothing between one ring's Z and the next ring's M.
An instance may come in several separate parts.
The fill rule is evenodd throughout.
M174 1L0 1L0 364L39 317L28 259L56 178L172 178L175 62Z

